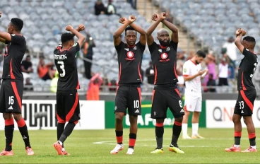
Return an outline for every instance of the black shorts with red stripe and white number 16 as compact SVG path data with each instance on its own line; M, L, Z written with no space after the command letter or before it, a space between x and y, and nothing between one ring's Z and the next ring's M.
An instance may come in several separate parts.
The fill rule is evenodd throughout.
M0 112L21 113L23 81L3 80L0 90Z

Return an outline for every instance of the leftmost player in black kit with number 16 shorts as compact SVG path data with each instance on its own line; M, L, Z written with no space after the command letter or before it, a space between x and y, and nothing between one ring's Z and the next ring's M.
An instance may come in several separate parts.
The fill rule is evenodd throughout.
M12 141L14 122L16 120L20 134L25 142L25 151L34 155L30 146L28 129L21 115L23 99L23 74L20 63L25 54L26 41L20 31L23 28L23 21L19 18L12 18L8 24L8 33L0 32L0 41L6 43L6 52L4 54L4 66L2 83L0 90L0 112L3 113L6 136L6 148L0 153L0 156L13 156Z

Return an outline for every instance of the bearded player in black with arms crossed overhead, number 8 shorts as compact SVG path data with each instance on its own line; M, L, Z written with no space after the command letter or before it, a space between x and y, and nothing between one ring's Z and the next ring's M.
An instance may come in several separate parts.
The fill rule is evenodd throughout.
M165 20L166 16L167 13L161 13L160 16L153 14L152 20L155 22L146 31L147 45L150 50L153 68L155 69L151 118L156 119L155 135L157 148L151 153L163 153L163 122L166 118L168 107L175 117L175 123L172 127L172 142L169 150L176 153L184 153L177 146L179 134L182 131L182 118L184 115L182 100L177 89L176 61L177 45L179 42L178 29L175 25ZM160 22L172 30L172 35L170 37L168 30L164 28L160 29L157 36L160 42L160 45L158 45L154 42L152 33Z

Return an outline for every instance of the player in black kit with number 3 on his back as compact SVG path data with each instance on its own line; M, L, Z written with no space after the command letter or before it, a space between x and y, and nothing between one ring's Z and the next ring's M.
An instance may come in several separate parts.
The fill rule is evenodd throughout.
M77 30L71 25L66 26L67 31L61 35L61 45L54 49L54 61L59 72L57 84L57 139L54 148L58 155L69 155L65 151L64 141L72 133L80 118L80 107L77 90L80 88L78 83L78 71L75 62L77 52L85 40L85 37L78 31L84 30L84 25L79 25ZM78 42L74 42L74 35L78 37ZM66 124L65 127L65 123ZM64 129L65 127L65 129Z

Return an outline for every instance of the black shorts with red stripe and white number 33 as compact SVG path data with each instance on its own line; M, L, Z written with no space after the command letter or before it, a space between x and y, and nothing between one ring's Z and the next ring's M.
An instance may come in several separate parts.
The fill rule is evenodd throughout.
M234 113L240 116L252 116L256 90L240 90Z

